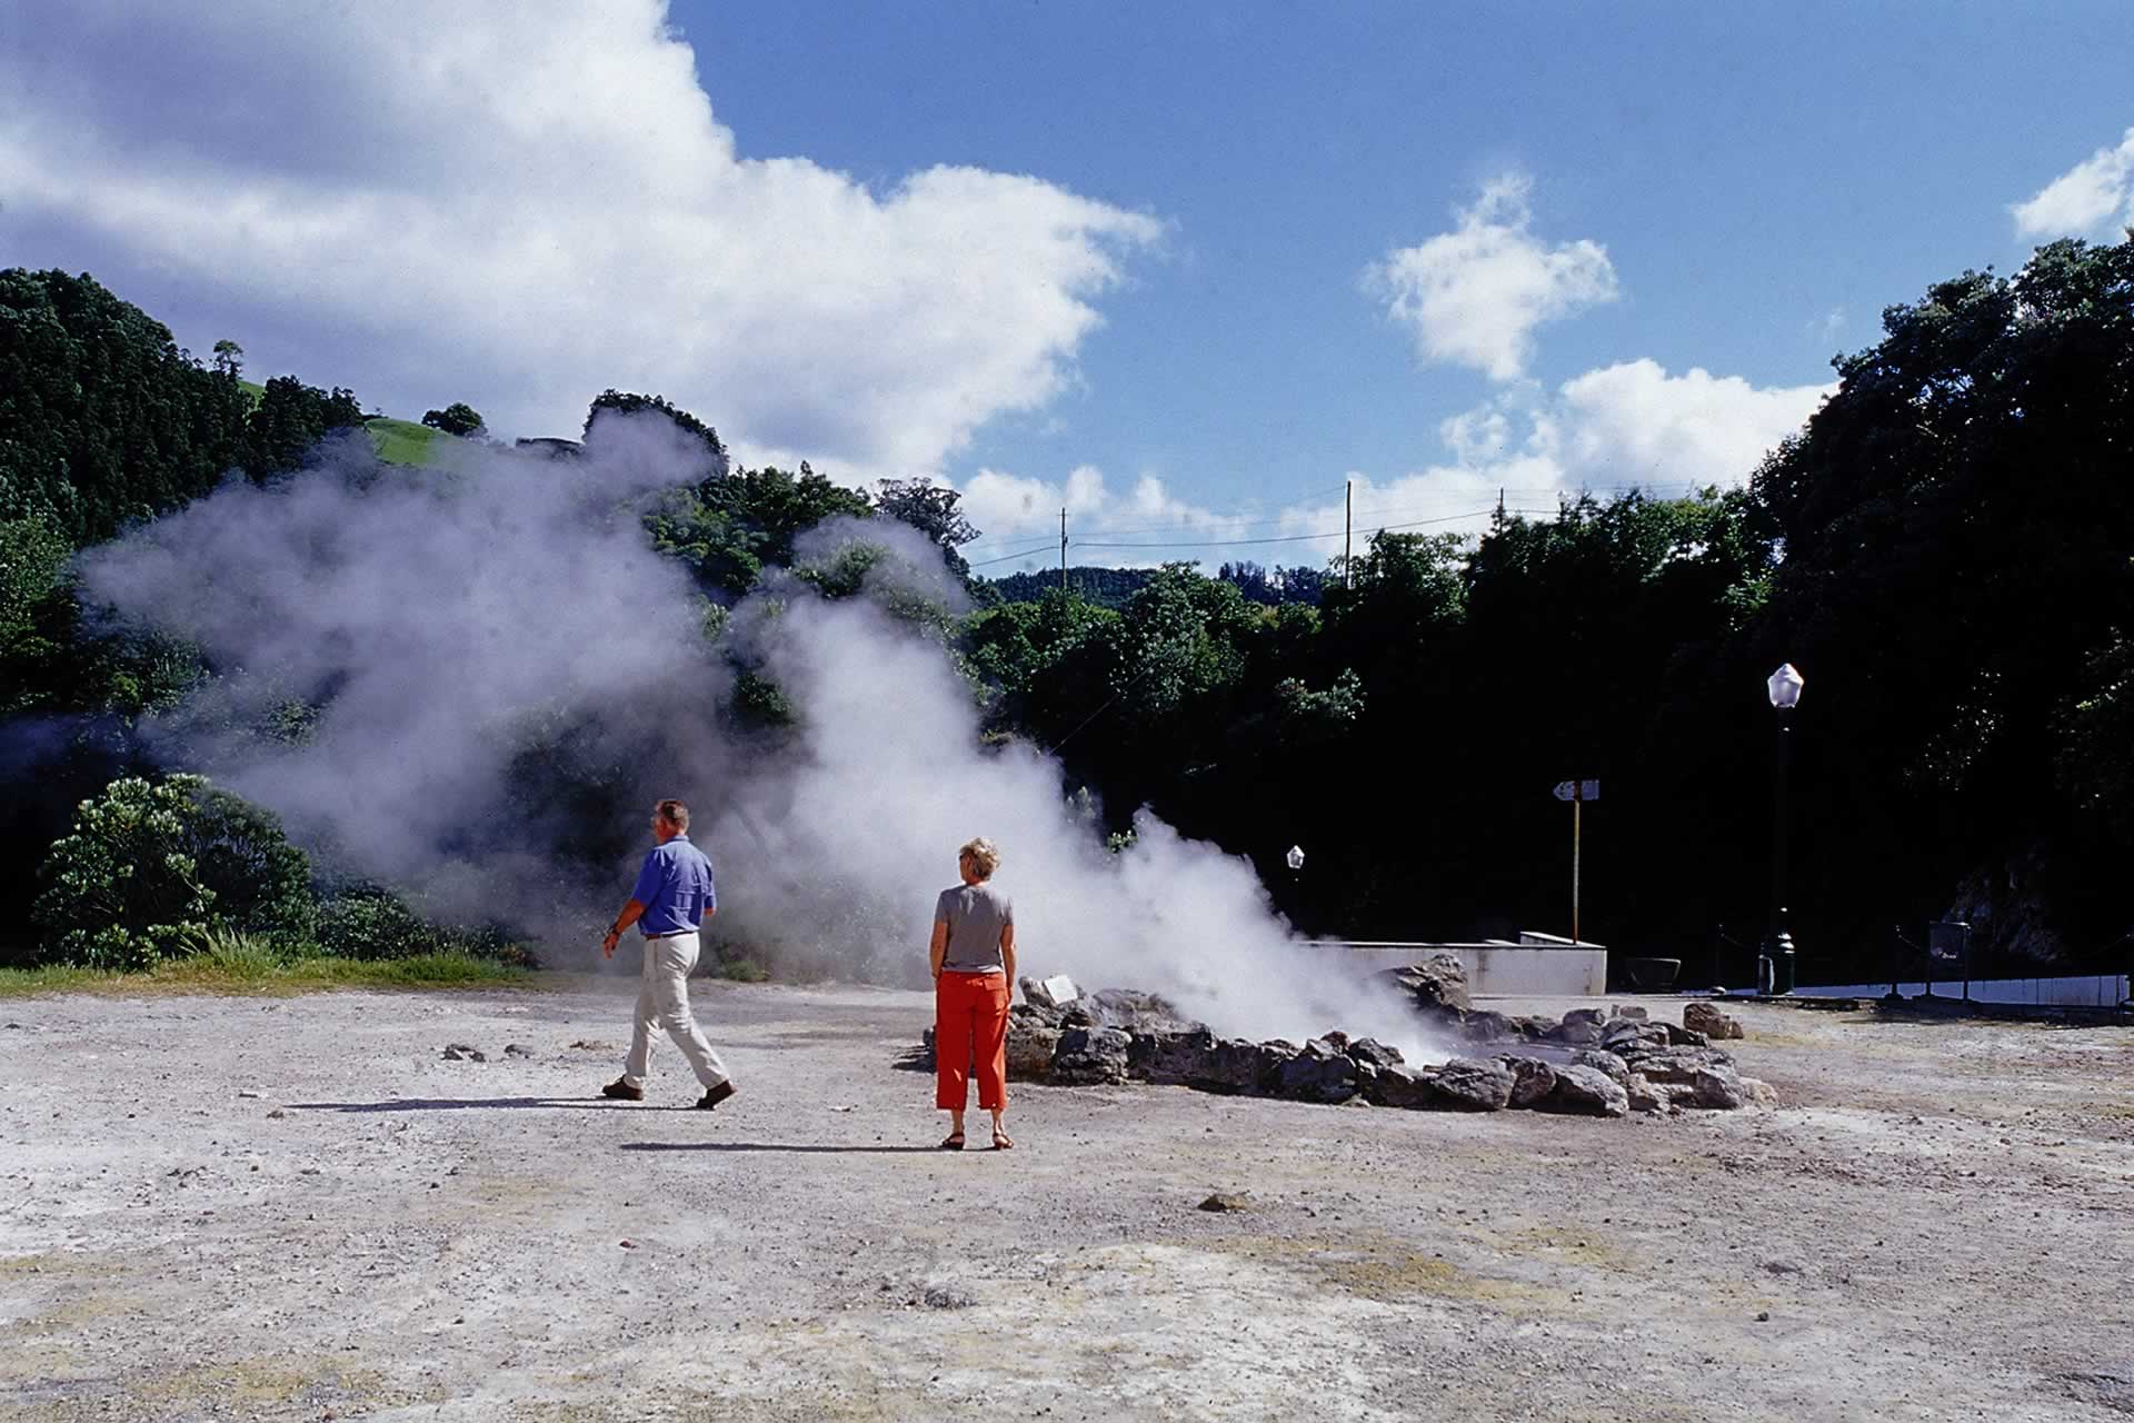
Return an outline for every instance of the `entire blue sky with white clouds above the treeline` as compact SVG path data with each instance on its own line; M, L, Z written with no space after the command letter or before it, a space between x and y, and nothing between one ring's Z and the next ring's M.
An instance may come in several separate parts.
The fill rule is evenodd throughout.
M751 459L958 484L973 557L1061 503L1078 559L1297 563L1338 540L1219 540L1338 527L1347 480L1445 527L1739 482L1884 305L2113 239L2134 169L2125 4L0 26L0 260L395 414L659 388Z

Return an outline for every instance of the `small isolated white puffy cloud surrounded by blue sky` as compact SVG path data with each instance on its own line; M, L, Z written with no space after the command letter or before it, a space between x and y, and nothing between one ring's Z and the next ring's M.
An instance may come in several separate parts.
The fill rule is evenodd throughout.
M1426 361L1470 365L1515 380L1532 356L1532 331L1615 299L1615 267L1594 241L1549 245L1534 237L1532 179L1492 179L1451 233L1396 247L1364 273L1364 290L1415 331Z

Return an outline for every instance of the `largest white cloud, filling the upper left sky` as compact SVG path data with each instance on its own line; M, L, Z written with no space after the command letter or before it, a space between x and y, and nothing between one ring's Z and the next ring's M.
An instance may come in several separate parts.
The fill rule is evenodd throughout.
M1163 237L1026 175L743 156L664 0L30 0L9 30L13 260L190 294L226 326L196 341L401 414L574 433L615 384L743 452L933 467L1071 384Z

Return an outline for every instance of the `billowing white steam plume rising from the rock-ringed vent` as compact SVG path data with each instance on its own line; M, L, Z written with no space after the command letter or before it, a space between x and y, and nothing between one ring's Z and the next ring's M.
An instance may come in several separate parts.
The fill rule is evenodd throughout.
M657 416L602 416L583 461L476 450L442 476L382 469L352 442L105 546L83 576L222 670L154 728L173 764L354 873L534 926L559 966L591 960L644 809L683 796L719 866L721 930L792 962L922 981L935 894L956 847L988 834L1024 973L1154 990L1231 1035L1340 1026L1421 1052L1398 998L1300 945L1242 858L1146 813L1140 843L1105 853L1056 762L980 747L941 642L888 610L956 595L905 525L837 521L800 542L817 567L877 548L862 595L777 574L730 612L723 649L800 715L775 749L732 730L706 608L636 516L706 474ZM299 702L322 706L305 736L260 734ZM612 792L612 819L563 794L585 783Z

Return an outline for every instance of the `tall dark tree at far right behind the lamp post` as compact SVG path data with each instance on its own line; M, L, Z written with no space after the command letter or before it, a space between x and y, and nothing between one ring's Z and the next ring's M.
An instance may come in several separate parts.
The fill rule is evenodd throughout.
M2047 862L2055 937L2123 932L2106 885L2134 847L2053 787L2113 779L2091 732L2134 631L2134 239L1963 273L1882 324L1756 476L1784 544L1761 646L1810 676L1822 757L1807 894L1833 937L1955 907L2010 943L2038 937L2021 866Z

